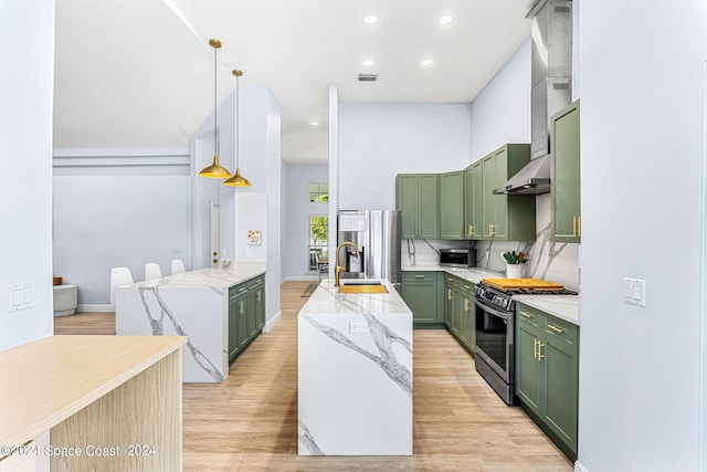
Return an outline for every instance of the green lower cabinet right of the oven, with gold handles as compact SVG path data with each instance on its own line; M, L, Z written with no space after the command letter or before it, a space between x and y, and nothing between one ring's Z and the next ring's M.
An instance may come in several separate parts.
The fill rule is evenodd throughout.
M516 395L530 418L577 460L579 327L516 305Z

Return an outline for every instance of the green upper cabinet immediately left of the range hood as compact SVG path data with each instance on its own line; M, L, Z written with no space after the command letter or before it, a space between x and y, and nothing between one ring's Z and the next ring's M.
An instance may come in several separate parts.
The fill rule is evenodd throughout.
M481 161L482 228L473 239L535 241L535 196L494 195L530 161L530 145L508 144Z

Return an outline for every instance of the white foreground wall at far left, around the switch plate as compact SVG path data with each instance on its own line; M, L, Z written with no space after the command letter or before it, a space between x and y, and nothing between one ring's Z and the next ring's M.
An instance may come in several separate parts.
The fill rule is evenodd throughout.
M3 1L0 14L0 350L53 332L54 1ZM19 46L21 44L21 46ZM31 170L28 170L31 169ZM34 307L8 313L8 286L34 282Z

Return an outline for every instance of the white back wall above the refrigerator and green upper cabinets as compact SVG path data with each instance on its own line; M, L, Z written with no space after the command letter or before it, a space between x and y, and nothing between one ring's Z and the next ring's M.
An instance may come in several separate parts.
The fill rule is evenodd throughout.
M338 209L394 209L395 175L469 162L469 104L341 102L338 118Z

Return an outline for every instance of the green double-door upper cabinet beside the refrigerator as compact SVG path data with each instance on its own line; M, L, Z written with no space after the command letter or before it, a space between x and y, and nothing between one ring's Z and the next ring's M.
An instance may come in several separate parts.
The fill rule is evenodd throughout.
M436 174L399 174L395 207L402 212L403 238L439 238Z

